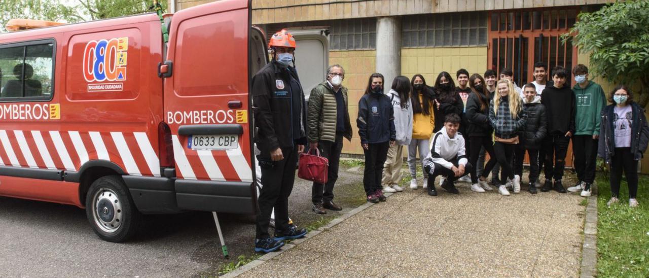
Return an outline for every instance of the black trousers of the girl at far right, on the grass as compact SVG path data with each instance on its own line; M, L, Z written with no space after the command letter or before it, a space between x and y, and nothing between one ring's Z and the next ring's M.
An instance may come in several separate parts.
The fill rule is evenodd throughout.
M638 160L633 158L630 147L616 147L615 155L611 157L611 196L620 196L620 182L622 170L626 175L626 184L629 186L629 198L635 199L638 192Z

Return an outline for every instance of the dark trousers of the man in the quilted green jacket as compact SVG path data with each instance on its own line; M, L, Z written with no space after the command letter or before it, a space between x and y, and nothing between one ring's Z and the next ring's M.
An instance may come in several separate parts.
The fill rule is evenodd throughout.
M318 142L320 155L329 160L326 184L313 183L311 201L315 203L329 202L334 199L334 184L338 179L340 152L343 150L343 134L336 134L336 142Z

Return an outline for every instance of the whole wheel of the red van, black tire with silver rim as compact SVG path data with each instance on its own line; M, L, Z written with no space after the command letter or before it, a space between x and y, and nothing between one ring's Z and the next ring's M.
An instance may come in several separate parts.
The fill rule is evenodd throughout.
M108 242L129 240L138 230L141 218L118 175L100 177L90 185L86 216L97 236Z

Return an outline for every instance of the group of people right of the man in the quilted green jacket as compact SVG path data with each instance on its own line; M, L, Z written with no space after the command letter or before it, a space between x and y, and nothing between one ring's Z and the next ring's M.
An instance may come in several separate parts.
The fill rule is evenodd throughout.
M384 201L384 193L403 190L398 183L402 149L407 146L410 188L418 188L419 153L422 187L430 196L437 196L435 178L439 176L439 186L451 194L459 194L458 180L471 183L474 192L484 193L495 186L502 196L517 194L527 153L531 194L540 188L541 192L580 192L588 197L599 154L611 167L609 205L618 202L624 171L629 205L636 207L637 165L649 142L644 108L633 102L624 85L613 89L612 104L607 105L604 90L589 80L583 64L572 69L576 82L572 88L567 69L553 68L551 81L547 81L547 72L546 65L537 62L534 81L522 88L507 68L500 71L497 81L491 69L484 77L459 69L458 86L446 71L437 75L434 86L428 86L422 75L398 76L387 94L383 75L371 75L358 103L357 119L365 151L367 201ZM570 140L578 182L566 190L562 179ZM485 153L490 158L486 164ZM541 168L545 168L545 183L539 179ZM490 171L491 184L487 182Z

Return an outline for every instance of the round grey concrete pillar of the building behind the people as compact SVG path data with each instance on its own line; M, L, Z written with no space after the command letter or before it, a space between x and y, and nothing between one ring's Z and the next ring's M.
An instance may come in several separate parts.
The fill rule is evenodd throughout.
M387 94L401 75L401 18L397 16L376 19L376 72L385 77Z

